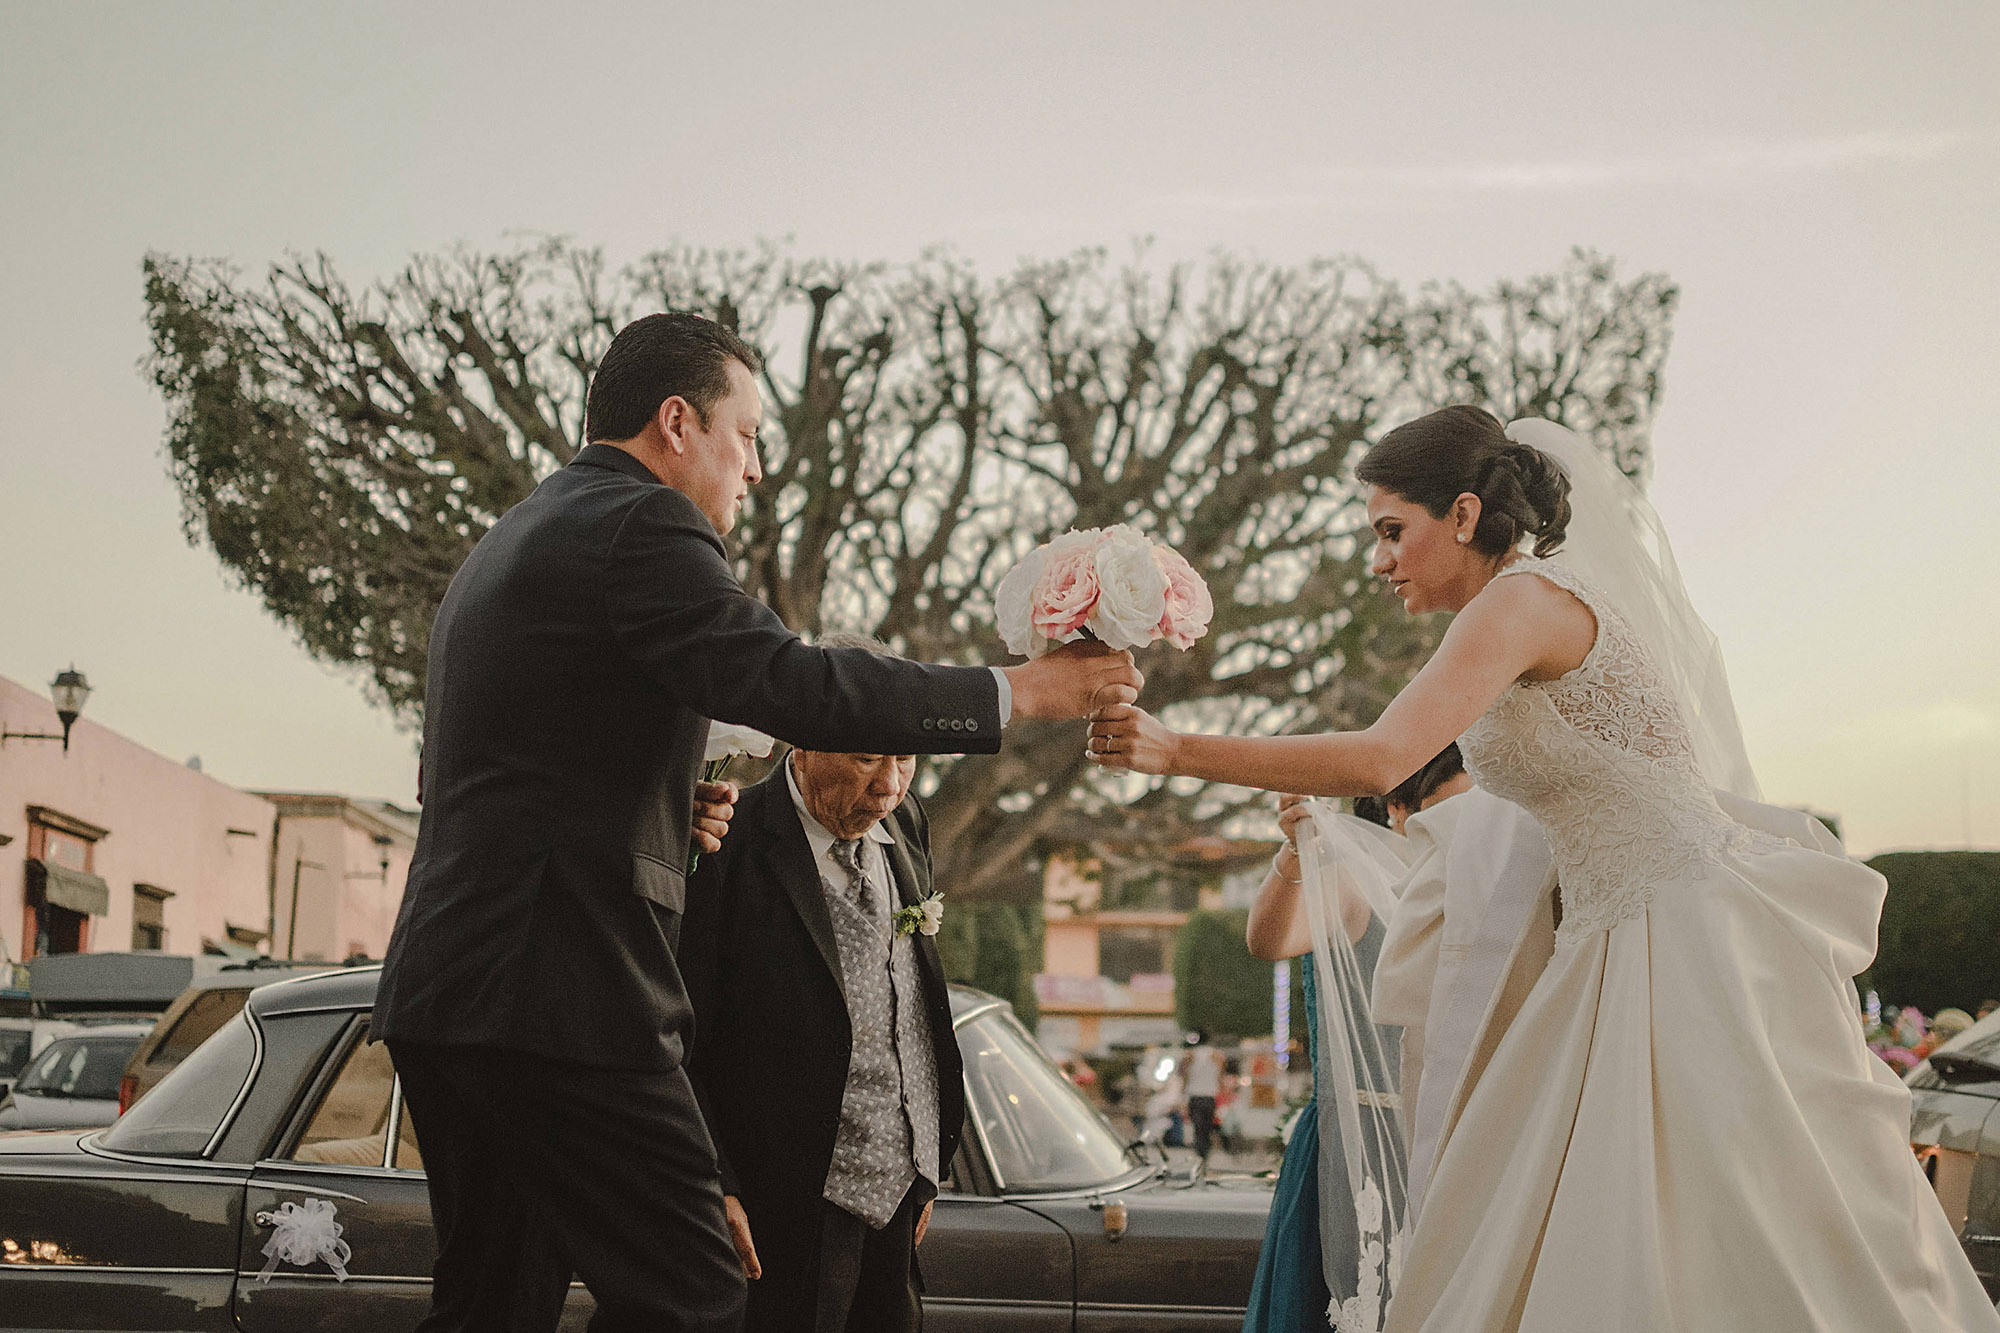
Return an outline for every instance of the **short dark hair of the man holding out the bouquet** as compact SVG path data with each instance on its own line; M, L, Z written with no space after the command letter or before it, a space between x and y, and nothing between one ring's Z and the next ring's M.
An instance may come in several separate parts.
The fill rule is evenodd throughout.
M684 398L708 424L730 392L730 362L764 370L756 348L700 314L648 314L618 330L584 400L586 440L630 440L668 398Z

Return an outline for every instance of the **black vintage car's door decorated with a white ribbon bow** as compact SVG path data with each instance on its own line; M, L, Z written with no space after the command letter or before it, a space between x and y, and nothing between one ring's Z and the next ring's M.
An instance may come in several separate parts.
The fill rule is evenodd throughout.
M402 1333L430 1311L436 1233L422 1149L386 1045L356 1015L292 1129L256 1163L244 1199L236 1323L244 1333ZM310 1209L340 1225L346 1279L326 1251L266 1255L274 1237L310 1237ZM562 1327L582 1333L590 1299L572 1291Z

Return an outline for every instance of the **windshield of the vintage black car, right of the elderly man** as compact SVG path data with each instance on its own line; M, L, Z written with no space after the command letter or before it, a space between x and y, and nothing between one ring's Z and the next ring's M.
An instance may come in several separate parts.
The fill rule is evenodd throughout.
M1124 1141L1006 1009L958 1029L972 1115L1000 1187L1084 1189L1130 1169Z

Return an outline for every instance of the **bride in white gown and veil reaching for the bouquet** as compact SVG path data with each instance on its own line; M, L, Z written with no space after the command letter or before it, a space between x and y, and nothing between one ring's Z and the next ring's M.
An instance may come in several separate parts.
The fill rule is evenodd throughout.
M1410 612L1458 612L1382 717L1200 737L1116 705L1090 757L1346 797L1456 739L1542 823L1556 953L1446 1129L1388 1329L2000 1333L1862 1045L1850 977L1884 883L1754 801L1636 486L1552 422L1468 406L1390 430L1356 476L1374 572Z

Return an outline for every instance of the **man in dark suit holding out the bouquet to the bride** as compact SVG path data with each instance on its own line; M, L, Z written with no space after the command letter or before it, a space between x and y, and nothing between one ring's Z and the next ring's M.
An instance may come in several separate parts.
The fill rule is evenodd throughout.
M480 538L430 636L424 821L382 967L424 1145L426 1331L552 1329L574 1267L592 1329L734 1329L744 1279L680 1067L674 943L728 793L708 719L818 751L992 753L1008 717L1138 689L1124 654L1004 673L798 640L722 546L762 476L758 356L688 314L612 340L570 466Z

